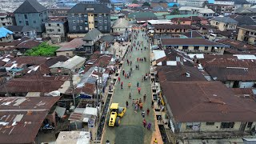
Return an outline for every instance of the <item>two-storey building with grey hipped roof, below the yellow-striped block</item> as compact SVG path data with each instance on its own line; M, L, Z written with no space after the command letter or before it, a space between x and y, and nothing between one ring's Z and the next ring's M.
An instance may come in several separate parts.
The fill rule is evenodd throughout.
M77 55L93 54L95 50L98 50L98 40L102 38L102 33L98 29L90 30L83 38L82 46L76 48L74 53Z

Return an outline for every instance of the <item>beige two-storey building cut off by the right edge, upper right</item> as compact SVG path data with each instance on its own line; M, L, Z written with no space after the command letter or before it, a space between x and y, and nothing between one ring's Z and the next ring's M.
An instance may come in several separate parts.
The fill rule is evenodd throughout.
M248 42L251 45L256 45L256 26L238 26L238 41Z

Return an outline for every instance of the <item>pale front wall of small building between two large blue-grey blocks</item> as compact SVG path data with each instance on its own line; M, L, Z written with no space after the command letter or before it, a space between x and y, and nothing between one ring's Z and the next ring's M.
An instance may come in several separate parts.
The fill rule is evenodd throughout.
M49 37L53 35L61 35L61 37L66 36L67 22L46 22L46 34Z

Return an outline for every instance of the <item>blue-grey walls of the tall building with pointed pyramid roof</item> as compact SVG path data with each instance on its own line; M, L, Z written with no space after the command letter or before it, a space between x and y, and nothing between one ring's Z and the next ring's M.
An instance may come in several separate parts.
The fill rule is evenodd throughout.
M17 26L31 26L37 30L38 33L45 31L43 22L48 20L48 11L42 13L31 14L14 14ZM25 18L26 17L26 18Z

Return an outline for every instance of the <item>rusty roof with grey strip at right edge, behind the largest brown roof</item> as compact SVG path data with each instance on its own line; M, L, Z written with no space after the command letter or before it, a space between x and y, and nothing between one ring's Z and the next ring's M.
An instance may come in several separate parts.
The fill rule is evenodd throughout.
M231 54L205 54L198 60L212 78L217 81L255 81L256 61L238 59Z

